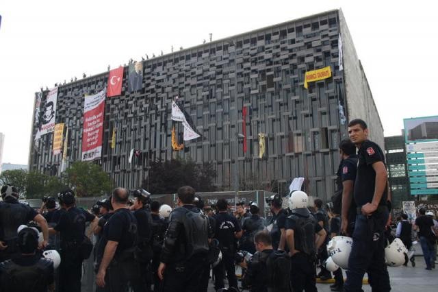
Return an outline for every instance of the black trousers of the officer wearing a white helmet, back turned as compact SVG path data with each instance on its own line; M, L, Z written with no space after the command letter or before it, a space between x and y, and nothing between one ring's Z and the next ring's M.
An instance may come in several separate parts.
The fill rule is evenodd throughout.
M291 258L291 284L294 292L316 292L315 261L302 252Z

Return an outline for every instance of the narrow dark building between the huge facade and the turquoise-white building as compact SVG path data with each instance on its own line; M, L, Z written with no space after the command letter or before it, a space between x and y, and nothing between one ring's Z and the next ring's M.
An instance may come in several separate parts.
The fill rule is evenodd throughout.
M415 197L411 197L409 190L404 134L385 137L385 156L392 202L394 207L401 208L402 201L412 201L415 199Z

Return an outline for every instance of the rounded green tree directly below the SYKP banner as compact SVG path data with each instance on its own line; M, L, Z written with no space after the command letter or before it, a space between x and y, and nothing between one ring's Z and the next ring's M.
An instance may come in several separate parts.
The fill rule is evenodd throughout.
M78 197L111 193L114 187L110 176L92 162L73 162L63 176L64 182L74 189Z

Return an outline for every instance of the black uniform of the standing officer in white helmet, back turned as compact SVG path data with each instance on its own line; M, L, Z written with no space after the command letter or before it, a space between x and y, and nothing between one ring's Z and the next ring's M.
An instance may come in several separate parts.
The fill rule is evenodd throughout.
M287 217L286 230L294 230L295 250L291 258L291 282L294 292L317 291L315 282L315 234L322 230L307 208L296 208Z

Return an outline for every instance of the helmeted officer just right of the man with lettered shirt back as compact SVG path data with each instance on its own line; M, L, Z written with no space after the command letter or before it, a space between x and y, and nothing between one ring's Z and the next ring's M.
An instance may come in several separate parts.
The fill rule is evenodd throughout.
M242 226L244 234L242 236L242 244L240 249L246 250L246 252L250 252L251 254L255 253L254 235L257 233L257 231L263 230L266 225L265 219L259 216L259 211L260 208L257 203L250 202L249 212L251 213L251 216L245 218Z

